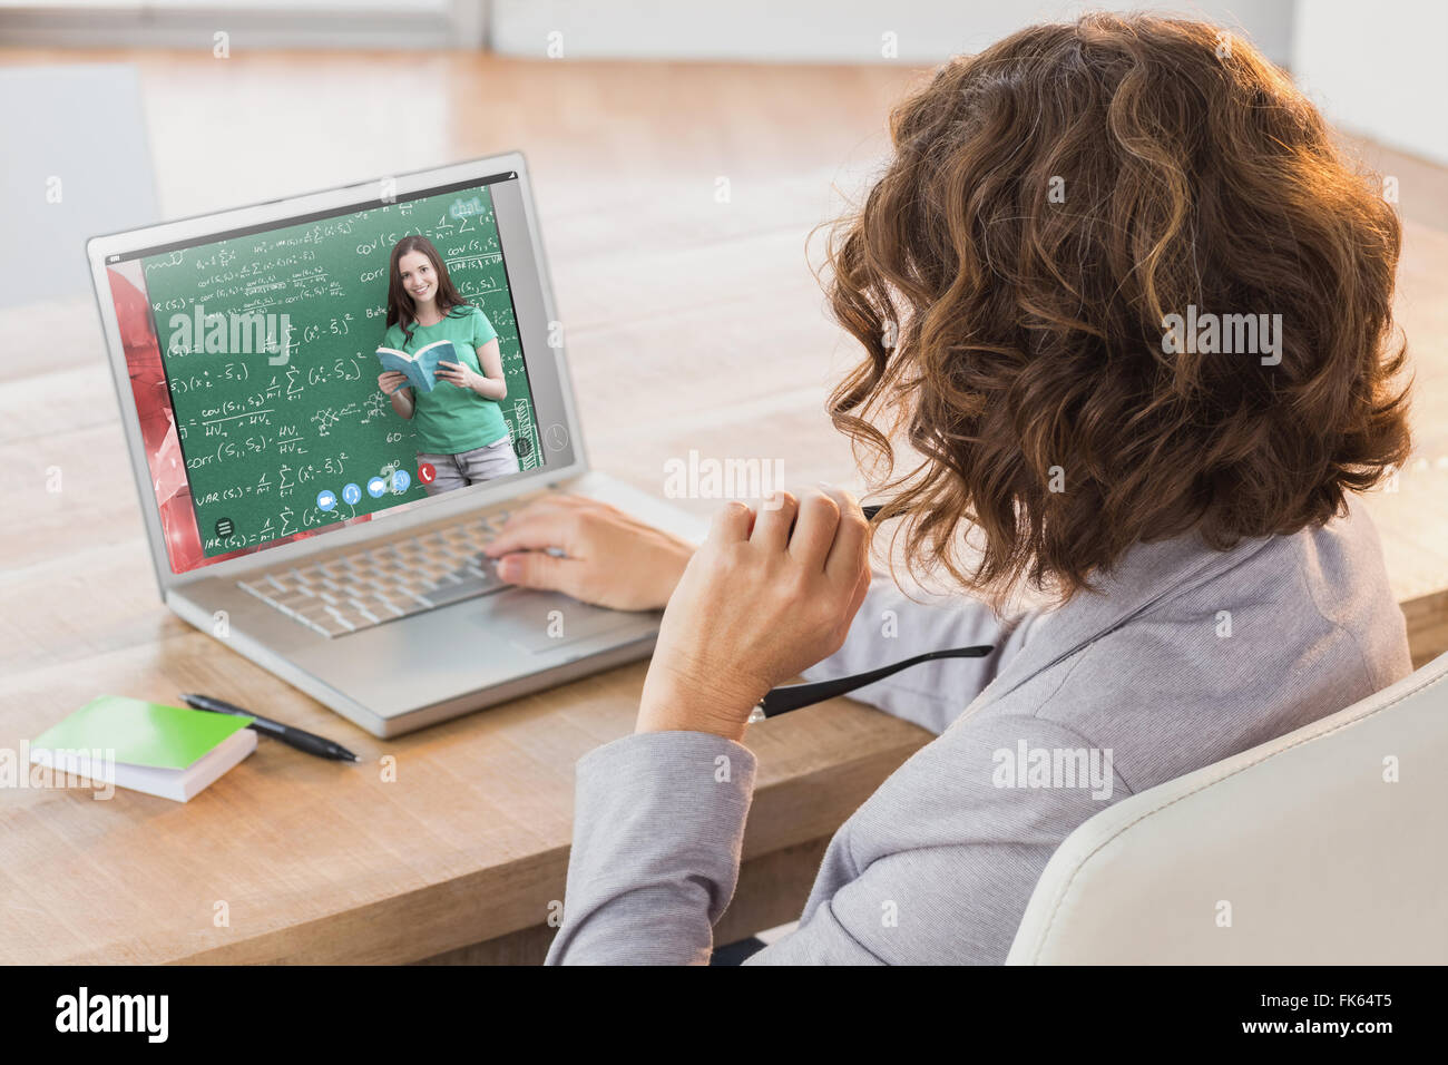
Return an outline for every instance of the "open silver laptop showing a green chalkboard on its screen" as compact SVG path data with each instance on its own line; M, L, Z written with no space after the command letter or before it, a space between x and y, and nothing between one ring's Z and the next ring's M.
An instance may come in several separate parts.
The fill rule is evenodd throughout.
M501 414L502 461L439 471L439 439L424 446L378 383L390 256L411 235L482 312L471 336L495 333L507 384L452 401L443 443L471 452ZM652 652L657 611L508 587L482 555L511 511L559 491L705 535L588 465L521 154L98 236L87 254L156 582L184 620L382 738Z

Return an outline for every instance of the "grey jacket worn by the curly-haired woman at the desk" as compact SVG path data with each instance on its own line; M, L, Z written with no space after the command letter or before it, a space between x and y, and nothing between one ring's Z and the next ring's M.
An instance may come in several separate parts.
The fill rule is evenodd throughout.
M1051 852L1087 817L1410 671L1377 533L1354 506L1229 552L1196 533L1138 545L1099 594L1011 622L877 578L846 645L807 675L969 643L998 649L860 690L938 738L840 827L798 930L750 964L999 964ZM699 732L579 759L549 964L707 962L753 785L750 751Z

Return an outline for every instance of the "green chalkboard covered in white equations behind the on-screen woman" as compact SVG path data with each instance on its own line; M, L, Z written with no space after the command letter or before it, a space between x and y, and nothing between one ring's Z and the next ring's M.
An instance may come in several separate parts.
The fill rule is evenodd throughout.
M161 252L142 265L207 556L426 498L374 355L388 258L413 233L498 332L502 416L521 468L537 467L487 185Z

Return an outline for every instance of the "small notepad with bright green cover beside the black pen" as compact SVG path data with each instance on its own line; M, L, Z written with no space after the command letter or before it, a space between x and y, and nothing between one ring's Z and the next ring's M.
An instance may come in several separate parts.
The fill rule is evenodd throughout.
M30 761L184 803L256 749L252 720L101 696L30 740Z

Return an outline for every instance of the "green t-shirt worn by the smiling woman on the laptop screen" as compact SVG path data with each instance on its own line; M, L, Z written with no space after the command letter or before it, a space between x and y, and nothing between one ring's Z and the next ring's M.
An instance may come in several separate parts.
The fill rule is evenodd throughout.
M429 343L452 341L462 362L482 372L478 348L497 336L488 316L478 307L453 307L433 326L413 326L413 339L404 343L403 326L387 330L382 346L416 355ZM453 359L447 359L452 362ZM507 439L508 425L497 400L485 400L471 388L459 388L439 378L430 393L413 391L413 429L417 449L433 455L460 455L475 448Z

